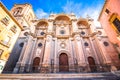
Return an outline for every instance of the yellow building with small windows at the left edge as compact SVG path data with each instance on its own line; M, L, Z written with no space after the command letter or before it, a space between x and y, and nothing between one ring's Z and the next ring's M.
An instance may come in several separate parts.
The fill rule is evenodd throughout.
M0 73L2 72L22 26L0 2Z

